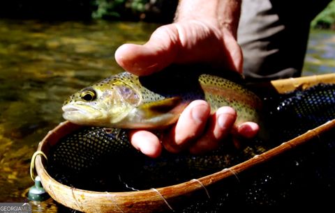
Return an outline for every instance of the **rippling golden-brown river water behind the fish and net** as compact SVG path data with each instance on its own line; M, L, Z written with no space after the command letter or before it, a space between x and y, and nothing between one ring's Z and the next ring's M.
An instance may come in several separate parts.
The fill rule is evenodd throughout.
M157 24L0 20L0 202L24 202L31 155L76 90L121 71L114 52ZM335 72L335 33L312 31L303 75ZM52 201L47 209L57 211Z

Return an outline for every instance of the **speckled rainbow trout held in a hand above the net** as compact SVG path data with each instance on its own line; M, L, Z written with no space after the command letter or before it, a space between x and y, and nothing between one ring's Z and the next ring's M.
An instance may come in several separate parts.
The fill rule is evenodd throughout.
M206 100L212 112L222 106L234 108L235 125L260 123L258 96L218 72L196 69L169 68L145 77L114 74L71 95L62 109L63 117L78 125L162 129L175 123L193 100Z

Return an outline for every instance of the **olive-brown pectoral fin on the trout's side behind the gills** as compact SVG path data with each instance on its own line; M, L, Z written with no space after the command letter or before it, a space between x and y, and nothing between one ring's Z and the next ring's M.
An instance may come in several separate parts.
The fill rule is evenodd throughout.
M142 104L138 108L141 111L146 111L147 113L167 113L176 108L181 103L181 100L181 97L169 97L165 100L158 100L155 102Z

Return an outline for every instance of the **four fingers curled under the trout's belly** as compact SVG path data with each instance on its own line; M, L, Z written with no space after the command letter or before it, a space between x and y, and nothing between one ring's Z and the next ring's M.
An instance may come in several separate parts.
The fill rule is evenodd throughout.
M184 109L177 124L162 137L145 130L133 130L131 143L149 157L158 157L162 145L169 152L189 150L192 154L202 154L218 148L228 134L250 139L258 133L256 123L234 126L237 114L231 107L221 107L212 115L210 111L207 102L195 100Z

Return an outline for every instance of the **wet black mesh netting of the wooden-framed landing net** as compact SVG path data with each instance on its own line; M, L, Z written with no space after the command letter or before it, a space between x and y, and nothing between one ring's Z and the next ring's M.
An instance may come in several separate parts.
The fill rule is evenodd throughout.
M263 97L269 139L245 141L237 149L193 156L163 153L145 157L128 142L126 129L82 127L64 137L48 156L47 172L70 187L91 191L136 191L200 178L238 164L335 118L335 85ZM173 206L174 212L259 212L329 207L335 198L335 131L226 178L201 200Z

